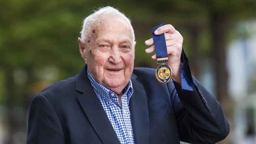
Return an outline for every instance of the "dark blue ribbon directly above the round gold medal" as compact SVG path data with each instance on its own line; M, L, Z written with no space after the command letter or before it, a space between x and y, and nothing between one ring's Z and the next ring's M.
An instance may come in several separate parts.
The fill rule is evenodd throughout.
M163 24L160 24L159 26L156 26L156 27L152 28L152 30L151 30L154 45L155 45L155 50L156 50L156 58L166 58L166 57L168 58L164 33L161 35L154 34L154 31L161 26L163 26ZM157 61L157 63L167 63L167 62L168 62L168 59Z

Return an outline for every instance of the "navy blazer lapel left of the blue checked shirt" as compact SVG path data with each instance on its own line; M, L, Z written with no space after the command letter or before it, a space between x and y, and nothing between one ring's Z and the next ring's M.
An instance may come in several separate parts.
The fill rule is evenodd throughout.
M95 91L86 76L86 66L76 78L76 90L82 92L78 101L103 144L120 144Z

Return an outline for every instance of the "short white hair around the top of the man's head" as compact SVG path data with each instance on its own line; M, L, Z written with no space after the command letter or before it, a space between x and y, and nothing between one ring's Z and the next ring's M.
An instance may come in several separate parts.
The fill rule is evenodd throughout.
M80 34L81 34L81 39L84 42L90 36L91 24L93 24L93 22L97 20L100 16L108 16L108 17L118 16L123 18L130 26L130 30L132 32L132 42L133 43L135 42L134 29L132 28L131 20L127 18L123 13L121 13L118 9L115 9L110 6L99 8L97 11L94 11L94 13L92 13L91 15L89 15L83 20L83 27Z

